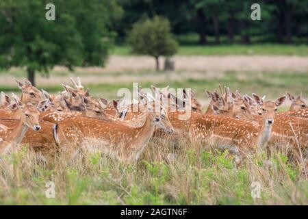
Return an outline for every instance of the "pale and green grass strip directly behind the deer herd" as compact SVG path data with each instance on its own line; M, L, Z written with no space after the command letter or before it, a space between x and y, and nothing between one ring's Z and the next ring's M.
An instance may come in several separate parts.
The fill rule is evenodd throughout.
M21 78L25 72L16 70L10 72L10 77L1 77L0 90L4 92L16 92L20 90L16 86L13 77ZM70 84L69 77L81 77L85 87L90 88L93 96L102 96L107 99L116 99L116 92L120 88L133 89L132 83L138 82L143 88L149 88L151 84L157 87L170 86L170 88L192 88L202 103L207 103L204 90L214 90L218 84L229 86L232 90L240 90L242 94L257 94L268 96L268 99L277 98L286 91L293 94L303 92L303 98L308 98L308 74L298 72L224 72L224 73L155 73L155 72L124 72L102 73L80 70L77 73L68 71L52 71L50 78L38 77L38 88L44 88L48 92L56 94L62 90L61 83ZM206 107L206 105L205 105Z

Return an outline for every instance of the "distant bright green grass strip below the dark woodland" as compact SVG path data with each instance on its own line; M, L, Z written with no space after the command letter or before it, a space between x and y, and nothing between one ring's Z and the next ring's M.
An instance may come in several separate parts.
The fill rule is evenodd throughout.
M131 55L127 46L115 47L112 55ZM180 46L177 55L308 55L307 44L220 44Z

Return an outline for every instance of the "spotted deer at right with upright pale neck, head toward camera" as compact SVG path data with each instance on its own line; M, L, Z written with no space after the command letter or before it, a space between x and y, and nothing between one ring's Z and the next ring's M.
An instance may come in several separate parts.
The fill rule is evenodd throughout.
M261 126L249 120L193 113L190 119L190 140L194 143L214 141L218 148L229 149L235 154L255 151L255 145L264 148L270 140L277 107L284 101L285 96L281 96L275 102L262 103L264 114Z

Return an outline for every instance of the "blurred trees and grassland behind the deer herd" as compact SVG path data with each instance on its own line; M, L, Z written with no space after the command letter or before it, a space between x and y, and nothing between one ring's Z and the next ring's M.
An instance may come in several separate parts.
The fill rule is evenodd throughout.
M0 90L28 77L57 93L79 76L107 99L133 82L192 88L204 105L218 83L308 99L307 15L308 0L1 0Z

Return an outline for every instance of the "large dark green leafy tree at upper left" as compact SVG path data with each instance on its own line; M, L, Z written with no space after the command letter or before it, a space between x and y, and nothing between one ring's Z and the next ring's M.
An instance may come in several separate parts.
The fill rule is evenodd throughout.
M25 67L34 84L36 72L48 74L55 65L103 66L115 1L55 0L55 21L45 18L47 3L1 0L0 68Z

